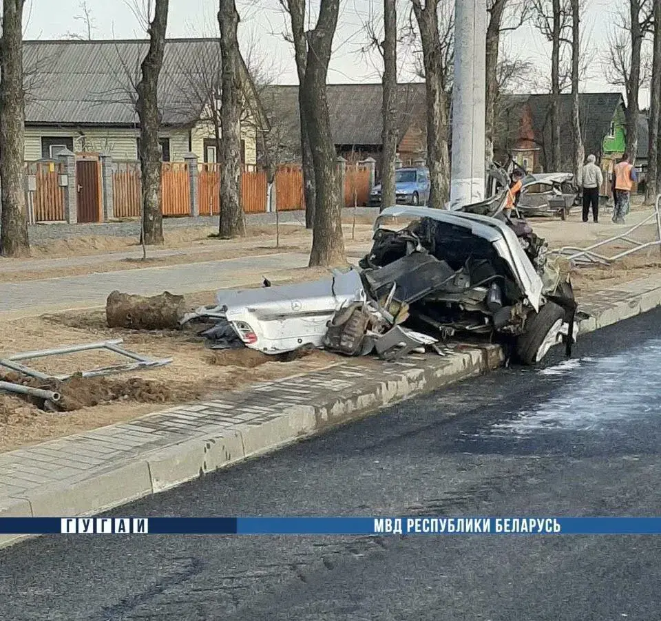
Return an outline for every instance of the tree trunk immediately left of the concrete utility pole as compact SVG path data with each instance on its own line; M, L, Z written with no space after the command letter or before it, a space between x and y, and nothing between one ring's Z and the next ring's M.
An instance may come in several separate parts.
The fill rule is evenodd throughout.
M448 152L448 94L443 91L441 41L439 40L438 0L428 0L425 8L413 0L420 30L427 94L427 162L430 176L430 207L443 207L450 198L450 156Z

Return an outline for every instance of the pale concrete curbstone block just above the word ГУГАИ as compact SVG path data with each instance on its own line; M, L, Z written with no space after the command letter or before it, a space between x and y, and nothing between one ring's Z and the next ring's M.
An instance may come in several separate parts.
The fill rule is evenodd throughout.
M28 493L32 515L85 516L124 505L151 494L147 462L140 460L100 472L70 485L46 487Z

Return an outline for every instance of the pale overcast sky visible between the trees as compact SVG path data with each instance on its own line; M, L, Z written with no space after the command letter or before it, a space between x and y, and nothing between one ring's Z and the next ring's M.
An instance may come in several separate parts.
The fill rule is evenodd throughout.
M145 0L139 0L143 2ZM406 0L399 0L406 6ZM128 0L134 3L134 0ZM602 58L607 48L607 30L613 23L613 10L623 0L587 0L587 11L583 20L584 44L591 51L589 76L581 85L584 91L619 90L607 82ZM242 21L240 38L244 48L256 46L258 52L268 59L271 72L280 83L297 83L291 45L282 36L286 30L286 19L278 0L237 0ZM313 12L319 0L308 0ZM92 36L95 39L130 39L145 36L138 20L124 0L87 0L94 19ZM375 53L361 52L368 43L363 25L370 17L370 8L380 9L381 0L341 0L341 9L333 58L328 72L330 83L379 81L379 59ZM217 0L170 0L168 36L216 36ZM25 28L28 39L58 39L67 33L85 34L85 23L81 19L81 0L27 0ZM408 16L400 12L403 21ZM516 32L508 33L505 48L510 54L536 65L538 78L529 85L518 88L520 92L543 90L549 76L550 45L532 24L526 24ZM400 79L410 78L412 59L404 54L400 59ZM529 87L528 87L529 86ZM641 105L647 105L647 92L642 93Z

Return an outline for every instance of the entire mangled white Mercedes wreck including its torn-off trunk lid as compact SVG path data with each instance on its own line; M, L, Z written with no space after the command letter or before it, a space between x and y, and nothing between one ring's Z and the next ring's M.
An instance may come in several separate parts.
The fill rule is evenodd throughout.
M359 270L317 282L221 291L182 320L213 348L326 348L396 359L455 335L512 344L525 364L574 339L576 303L544 240L504 209L505 192L463 211L390 207ZM489 215L485 215L485 214ZM390 224L396 224L388 228ZM484 336L482 337L484 338Z

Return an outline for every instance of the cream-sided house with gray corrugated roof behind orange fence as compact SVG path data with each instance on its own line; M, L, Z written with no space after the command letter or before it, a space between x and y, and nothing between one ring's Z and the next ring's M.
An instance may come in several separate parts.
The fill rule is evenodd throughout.
M136 85L148 41L24 41L25 160L63 149L136 160ZM245 66L242 73L251 83ZM193 152L216 162L213 114L220 105L218 39L168 39L158 83L165 161ZM242 160L254 164L256 130L246 113Z

